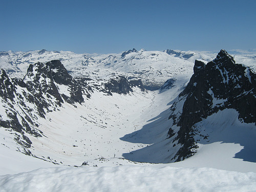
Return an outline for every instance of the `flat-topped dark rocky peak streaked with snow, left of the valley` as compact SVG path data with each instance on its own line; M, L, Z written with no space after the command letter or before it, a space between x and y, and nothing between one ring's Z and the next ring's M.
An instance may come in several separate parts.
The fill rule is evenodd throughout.
M81 86L59 60L30 65L23 81L33 95L29 102L37 106L41 117L45 109L52 111L50 108L60 106L63 100L70 104L83 102Z

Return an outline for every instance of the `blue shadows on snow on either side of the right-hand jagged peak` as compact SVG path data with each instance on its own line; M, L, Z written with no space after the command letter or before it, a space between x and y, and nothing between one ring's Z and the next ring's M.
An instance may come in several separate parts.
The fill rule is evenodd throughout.
M173 101L168 104L172 103ZM172 125L172 122L168 120L169 115L170 109L167 109L148 120L148 124L145 124L142 129L120 138L126 142L148 144L147 147L124 153L123 157L136 162L170 163L170 159L177 152L177 148L173 148L172 138L166 139L168 130ZM198 122L197 127L201 131L207 130L204 134L209 136L208 139L201 139L198 143L238 143L244 148L233 158L256 162L255 125L253 123L241 123L235 110L219 111L204 121ZM202 133L201 131L200 133Z

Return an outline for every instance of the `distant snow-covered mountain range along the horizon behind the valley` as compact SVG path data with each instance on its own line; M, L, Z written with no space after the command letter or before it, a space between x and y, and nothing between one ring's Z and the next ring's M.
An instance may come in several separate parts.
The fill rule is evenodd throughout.
M256 52L233 51L237 63L255 70ZM121 75L127 79L141 79L150 90L177 75L193 74L194 61L209 62L217 53L200 51L146 51L136 49L113 54L75 54L69 51L0 52L0 66L10 77L23 78L30 64L60 60L73 77L105 79ZM188 77L189 78L189 77Z

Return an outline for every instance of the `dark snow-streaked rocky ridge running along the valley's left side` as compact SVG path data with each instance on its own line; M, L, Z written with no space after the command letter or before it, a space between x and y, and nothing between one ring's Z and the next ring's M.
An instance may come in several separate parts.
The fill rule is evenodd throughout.
M21 147L18 150L27 155L31 155L32 142L26 134L44 137L37 129L38 118L45 118L46 113L58 110L64 102L76 107L90 98L94 90L108 95L127 94L133 92L133 87L144 91L140 80L129 82L123 76L104 82L103 89L99 84L92 88L88 84L90 78L73 78L59 60L30 65L23 79L9 78L3 69L0 77L0 126L13 132Z

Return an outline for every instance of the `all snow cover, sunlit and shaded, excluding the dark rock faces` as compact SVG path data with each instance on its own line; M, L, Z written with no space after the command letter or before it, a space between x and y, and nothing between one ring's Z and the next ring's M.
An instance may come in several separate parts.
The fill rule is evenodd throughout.
M198 132L202 133L197 138L198 152L181 162L167 162L167 151L173 146L164 141L170 128L169 108L193 73L194 60L208 61L216 54L201 52L184 61L169 58L164 52L143 52L139 56L140 53L127 56L125 61L118 58L118 65L114 62L118 54L95 55L97 67L93 67L91 58L71 52L45 57L42 54L41 60L33 54L28 55L32 59L19 58L20 63L12 65L18 68L18 75L23 75L30 63L59 59L60 55L65 67L73 70L73 76L85 73L93 78L109 78L111 73L127 75L148 69L143 74L148 79L154 77L163 82L176 77L177 81L171 90L161 92L134 89L134 93L113 96L95 92L76 108L65 103L59 111L47 113L46 119L38 120L38 129L46 137L27 136L33 142L34 155L58 164L16 152L13 135L0 129L0 191L255 191L255 126L241 123L235 110L218 112L197 123ZM136 64L130 57L141 60ZM158 62L157 57L170 60ZM234 59L255 69L253 56L238 54ZM155 63L155 69L148 67L148 60ZM82 61L88 61L89 66L82 65ZM171 61L176 63L168 69ZM1 60L2 66L9 69L8 62ZM166 73L157 72L162 69ZM67 92L66 87L59 89ZM207 135L208 139L202 139ZM132 162L124 156L162 160L165 164ZM83 162L86 165L73 167Z

